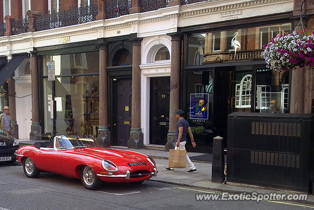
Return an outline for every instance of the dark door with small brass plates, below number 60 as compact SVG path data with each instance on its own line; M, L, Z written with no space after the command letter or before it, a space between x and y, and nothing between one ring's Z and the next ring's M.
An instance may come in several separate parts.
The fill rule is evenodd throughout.
M116 81L116 144L127 146L131 130L132 79Z

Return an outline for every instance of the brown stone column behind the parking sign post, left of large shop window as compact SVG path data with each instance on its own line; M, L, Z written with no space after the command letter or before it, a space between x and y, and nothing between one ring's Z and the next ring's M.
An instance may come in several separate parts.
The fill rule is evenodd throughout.
M39 121L39 87L38 87L38 66L37 66L37 52L30 52L31 62L31 126L29 139L40 140L41 139L41 125Z

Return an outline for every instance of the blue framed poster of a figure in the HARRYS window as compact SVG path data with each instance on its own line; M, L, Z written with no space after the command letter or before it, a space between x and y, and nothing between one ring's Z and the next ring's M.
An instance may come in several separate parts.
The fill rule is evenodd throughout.
M190 94L190 119L208 119L209 93Z

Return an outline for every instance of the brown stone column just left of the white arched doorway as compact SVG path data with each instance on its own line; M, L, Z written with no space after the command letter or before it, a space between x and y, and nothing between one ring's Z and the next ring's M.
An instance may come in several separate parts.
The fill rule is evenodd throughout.
M135 38L133 41L132 60L132 125L128 148L140 149L144 145L144 135L141 129L141 41Z

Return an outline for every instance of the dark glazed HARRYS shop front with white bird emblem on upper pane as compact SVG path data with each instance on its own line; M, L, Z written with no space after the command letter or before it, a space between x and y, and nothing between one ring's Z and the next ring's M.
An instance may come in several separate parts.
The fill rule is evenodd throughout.
M291 23L186 34L183 109L203 148L227 139L233 112L289 112L289 72L266 68L262 47ZM188 150L193 148L187 145Z

